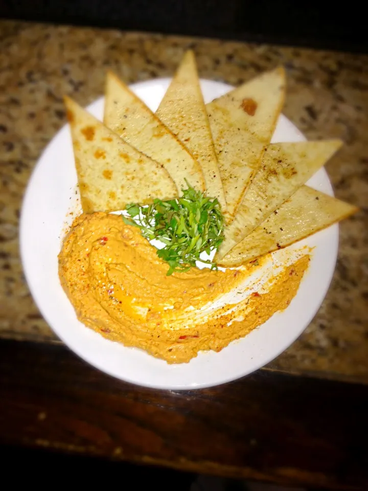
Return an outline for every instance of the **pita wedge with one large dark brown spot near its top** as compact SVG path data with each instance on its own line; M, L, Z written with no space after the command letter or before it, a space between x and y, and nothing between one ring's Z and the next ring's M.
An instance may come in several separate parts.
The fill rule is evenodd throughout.
M227 204L235 216L258 171L285 99L285 72L266 72L206 105Z

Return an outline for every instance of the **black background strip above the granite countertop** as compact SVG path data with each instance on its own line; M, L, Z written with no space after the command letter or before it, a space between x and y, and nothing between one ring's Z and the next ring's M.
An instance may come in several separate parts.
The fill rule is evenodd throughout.
M364 2L0 0L0 17L368 53Z

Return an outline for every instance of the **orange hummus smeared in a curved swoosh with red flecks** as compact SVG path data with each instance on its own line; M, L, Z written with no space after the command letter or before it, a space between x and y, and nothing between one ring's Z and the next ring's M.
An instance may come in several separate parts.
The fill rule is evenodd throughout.
M308 262L305 255L287 267L267 293L209 313L214 301L259 265L225 271L193 267L166 276L168 264L138 228L119 215L94 213L74 220L59 254L59 277L83 324L168 363L182 363L199 350L220 351L286 308Z

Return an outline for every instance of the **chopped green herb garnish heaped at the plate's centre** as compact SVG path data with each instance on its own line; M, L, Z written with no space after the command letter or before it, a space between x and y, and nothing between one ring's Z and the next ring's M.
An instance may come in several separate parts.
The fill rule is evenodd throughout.
M157 250L157 256L169 263L167 276L174 271L188 271L198 260L217 269L214 262L199 258L202 252L210 254L218 249L224 239L224 219L217 199L206 197L188 184L179 198L154 199L148 207L131 204L126 211L130 215L122 215L126 224L139 227L148 240L158 239L165 244Z

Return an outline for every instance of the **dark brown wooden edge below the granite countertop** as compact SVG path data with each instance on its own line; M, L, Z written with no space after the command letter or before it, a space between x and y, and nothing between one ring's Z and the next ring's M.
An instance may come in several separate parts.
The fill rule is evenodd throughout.
M368 387L259 370L136 387L65 346L0 340L0 444L278 484L368 489Z

